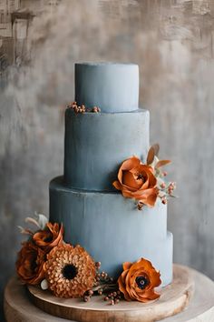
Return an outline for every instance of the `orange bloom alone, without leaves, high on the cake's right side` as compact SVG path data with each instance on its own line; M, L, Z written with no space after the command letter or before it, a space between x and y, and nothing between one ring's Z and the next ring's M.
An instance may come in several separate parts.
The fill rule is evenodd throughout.
M139 200L147 206L154 206L158 196L157 179L151 166L141 164L137 156L122 162L118 180L113 186L122 191L122 196Z

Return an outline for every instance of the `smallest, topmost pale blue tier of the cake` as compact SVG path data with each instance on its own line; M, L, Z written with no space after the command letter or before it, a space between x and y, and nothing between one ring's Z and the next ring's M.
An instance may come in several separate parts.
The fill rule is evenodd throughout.
M139 67L135 64L75 64L75 101L102 112L131 112L139 107Z

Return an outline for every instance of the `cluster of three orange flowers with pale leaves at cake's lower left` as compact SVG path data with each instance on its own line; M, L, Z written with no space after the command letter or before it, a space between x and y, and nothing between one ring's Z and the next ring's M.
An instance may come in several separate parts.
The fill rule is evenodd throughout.
M95 284L96 266L83 247L63 242L63 225L28 217L37 231L21 227L30 236L18 253L16 271L28 285L49 288L56 297L82 297Z

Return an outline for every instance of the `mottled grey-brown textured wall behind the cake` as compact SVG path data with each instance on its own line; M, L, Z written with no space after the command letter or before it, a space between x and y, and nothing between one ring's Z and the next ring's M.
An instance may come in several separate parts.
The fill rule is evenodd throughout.
M16 226L35 210L48 214L48 182L63 172L76 60L140 65L151 142L173 160L178 183L168 224L174 261L214 278L214 1L49 2L17 0L26 15L13 15L11 38L0 35L1 289L20 247Z

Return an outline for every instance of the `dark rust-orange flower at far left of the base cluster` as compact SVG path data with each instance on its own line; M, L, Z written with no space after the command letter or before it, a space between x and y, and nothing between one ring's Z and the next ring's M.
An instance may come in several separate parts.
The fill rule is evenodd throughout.
M45 253L32 242L25 242L18 253L16 272L25 284L39 284L45 277Z

